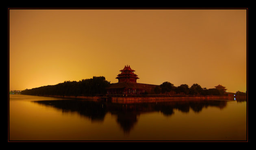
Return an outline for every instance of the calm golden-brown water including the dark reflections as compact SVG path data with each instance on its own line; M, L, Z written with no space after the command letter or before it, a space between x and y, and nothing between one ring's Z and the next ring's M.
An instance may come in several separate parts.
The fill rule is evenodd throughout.
M104 102L10 95L10 141L246 141L246 101Z

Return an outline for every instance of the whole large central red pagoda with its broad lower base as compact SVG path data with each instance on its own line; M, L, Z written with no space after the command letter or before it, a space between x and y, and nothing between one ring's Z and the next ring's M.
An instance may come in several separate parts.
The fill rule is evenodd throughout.
M154 94L157 85L137 83L138 76L130 65L124 66L117 75L118 83L112 83L107 89L107 94Z

